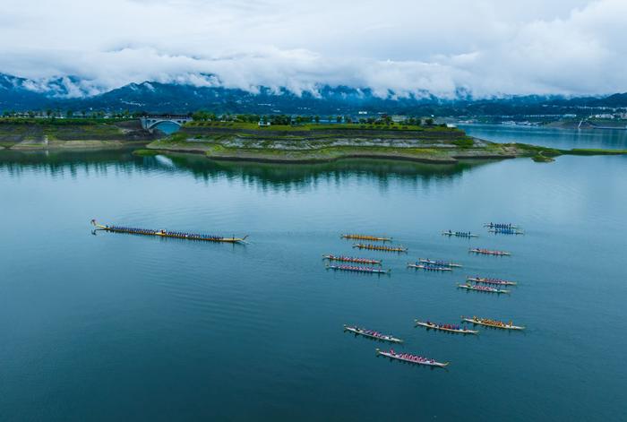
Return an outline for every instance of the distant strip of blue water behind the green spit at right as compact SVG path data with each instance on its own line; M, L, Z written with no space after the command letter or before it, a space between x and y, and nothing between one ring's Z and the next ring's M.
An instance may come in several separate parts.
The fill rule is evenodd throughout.
M524 142L561 148L627 149L627 130L555 129L514 125L460 125L468 134L493 142Z

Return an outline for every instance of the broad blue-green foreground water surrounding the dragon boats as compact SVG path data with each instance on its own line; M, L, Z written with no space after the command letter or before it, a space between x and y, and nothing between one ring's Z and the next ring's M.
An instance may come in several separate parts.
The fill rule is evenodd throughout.
M0 198L3 421L624 418L625 157L274 167L4 151ZM92 218L251 243L92 235ZM527 234L490 236L490 220ZM359 254L345 231L393 236L409 254ZM391 276L325 271L325 253L382 257ZM426 256L464 268L405 268ZM456 289L469 274L520 286ZM413 326L460 314L528 330ZM451 366L377 358L386 345L344 323Z

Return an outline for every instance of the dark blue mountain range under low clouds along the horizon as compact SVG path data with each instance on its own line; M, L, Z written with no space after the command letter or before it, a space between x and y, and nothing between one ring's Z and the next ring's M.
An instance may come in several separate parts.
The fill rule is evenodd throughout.
M287 90L259 87L255 92L221 86L178 83L130 83L102 90L75 76L31 80L0 73L0 111L26 110L146 111L189 113L199 109L216 113L345 115L358 111L434 116L523 116L585 114L587 108L627 108L627 93L605 97L502 96L475 99L458 90L453 99L427 91L399 96L375 95L368 88L324 85L300 95Z

